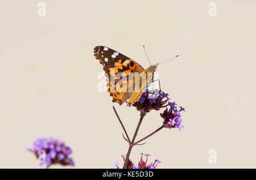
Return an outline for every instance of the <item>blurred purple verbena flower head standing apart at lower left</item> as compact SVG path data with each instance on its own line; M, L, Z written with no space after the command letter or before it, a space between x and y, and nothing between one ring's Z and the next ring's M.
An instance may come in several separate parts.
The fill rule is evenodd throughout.
M72 151L71 148L54 138L38 138L32 145L32 148L27 148L28 151L35 154L39 158L39 165L52 164L74 165L72 158L69 157Z

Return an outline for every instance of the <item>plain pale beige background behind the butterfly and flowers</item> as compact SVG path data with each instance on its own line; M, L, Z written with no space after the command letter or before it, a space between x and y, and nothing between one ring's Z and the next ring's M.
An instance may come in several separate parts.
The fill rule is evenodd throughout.
M158 168L256 168L256 1L0 2L0 168L38 168L25 153L38 136L73 150L75 168L112 168L127 152L106 93L97 91L102 66L93 47L109 46L157 69L162 89L184 106L184 129L164 129L137 146L162 161ZM139 113L117 107L130 136ZM147 114L138 138L159 127ZM208 162L210 149L217 163ZM63 168L52 166L52 168ZM69 168L69 167L65 167Z

